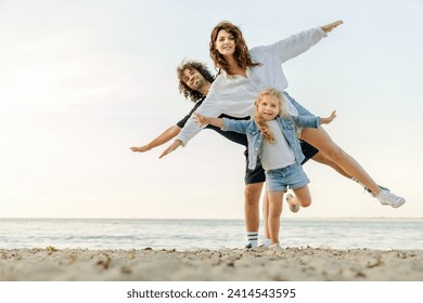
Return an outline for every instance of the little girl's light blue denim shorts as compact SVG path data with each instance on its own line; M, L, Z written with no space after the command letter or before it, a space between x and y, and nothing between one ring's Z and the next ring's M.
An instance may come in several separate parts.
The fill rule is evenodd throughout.
M286 192L287 187L298 189L310 183L303 167L298 163L283 169L268 170L266 172L266 182L267 192Z

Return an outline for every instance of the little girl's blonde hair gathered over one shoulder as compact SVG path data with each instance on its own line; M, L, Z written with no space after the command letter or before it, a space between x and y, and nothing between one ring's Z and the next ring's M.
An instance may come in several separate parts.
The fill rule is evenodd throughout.
M278 114L279 117L289 118L291 116L287 113L285 98L283 97L283 94L279 90L273 88L266 89L262 90L256 97L256 101L254 102L254 107L255 107L254 121L256 122L262 136L270 143L275 143L273 132L269 129L269 126L267 124L267 121L264 119L264 117L260 116L260 114L258 113L258 105L260 104L265 95L275 97L279 101L279 114Z

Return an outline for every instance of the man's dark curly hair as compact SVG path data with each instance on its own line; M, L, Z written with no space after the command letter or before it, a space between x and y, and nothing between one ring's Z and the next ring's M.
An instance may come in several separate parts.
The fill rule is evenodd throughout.
M190 97L192 102L196 102L198 98L204 97L204 95L195 90L190 89L187 83L183 81L183 71L196 69L207 81L215 81L215 76L211 75L207 66L204 63L197 61L182 61L182 63L177 68L177 75L179 80L179 93L183 94L185 98Z

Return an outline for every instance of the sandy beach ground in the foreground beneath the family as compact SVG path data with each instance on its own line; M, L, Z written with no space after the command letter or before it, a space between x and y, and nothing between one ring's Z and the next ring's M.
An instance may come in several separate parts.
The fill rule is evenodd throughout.
M423 251L0 249L0 280L423 281Z

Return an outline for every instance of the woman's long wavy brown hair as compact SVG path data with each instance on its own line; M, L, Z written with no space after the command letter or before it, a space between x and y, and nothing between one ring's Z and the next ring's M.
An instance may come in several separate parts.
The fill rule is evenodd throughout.
M242 36L241 29L228 21L222 21L221 23L216 25L215 28L211 30L210 42L208 44L210 57L215 63L215 68L219 73L220 69L223 69L228 75L233 75L233 73L229 67L228 62L225 60L225 56L222 56L219 53L219 51L216 49L217 36L219 35L219 31L222 29L230 32L234 38L235 52L233 53L233 55L240 68L248 68L248 67L254 67L259 65L259 63L253 62L252 56L248 52L248 48L244 40L244 37Z

